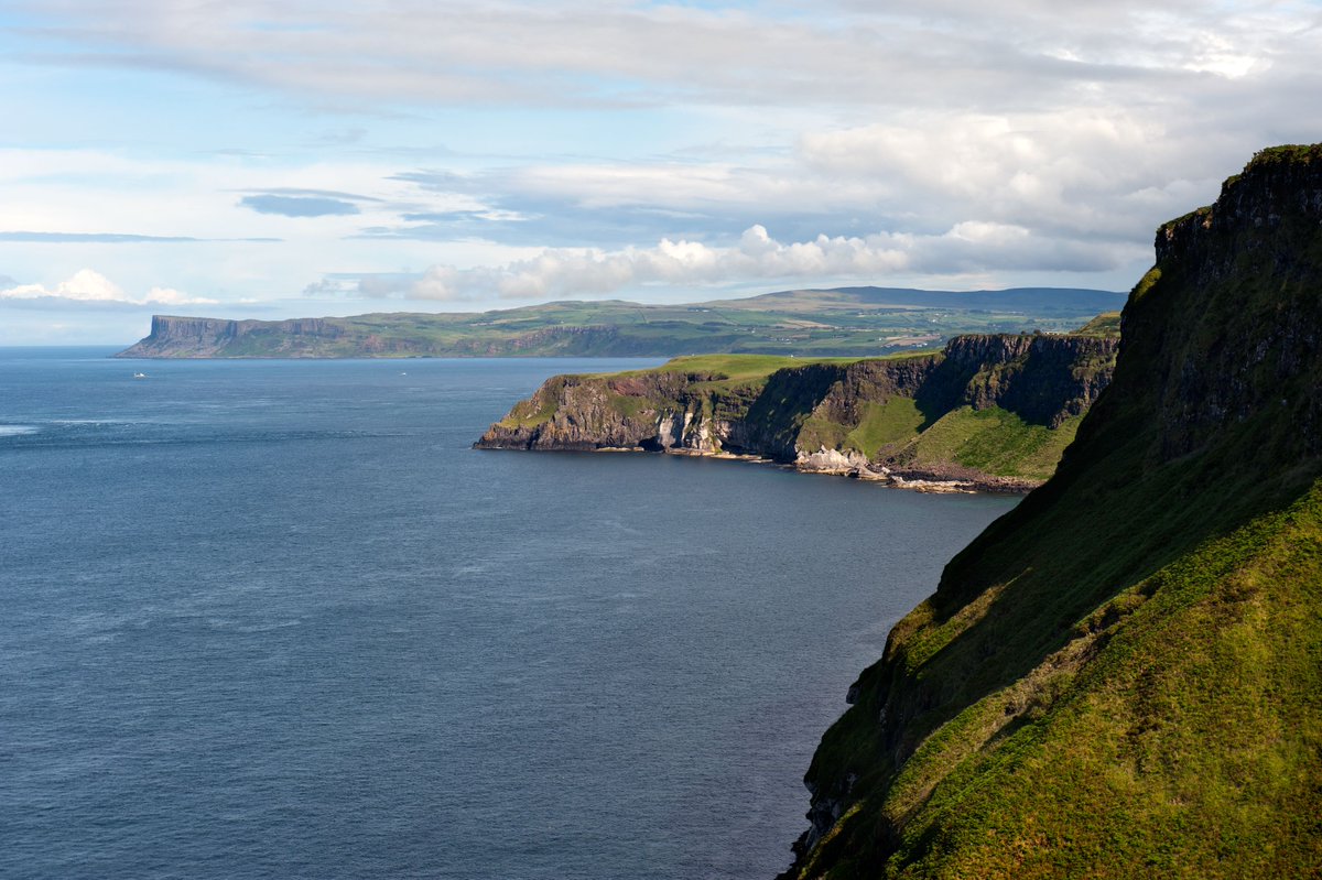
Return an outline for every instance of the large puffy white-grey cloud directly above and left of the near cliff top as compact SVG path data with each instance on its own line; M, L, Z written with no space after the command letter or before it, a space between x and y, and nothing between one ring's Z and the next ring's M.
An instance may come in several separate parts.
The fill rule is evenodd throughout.
M937 114L809 131L814 176L858 181L912 218L980 217L1071 238L1146 238L1169 214L1215 194L1257 135L1204 131L1151 108Z

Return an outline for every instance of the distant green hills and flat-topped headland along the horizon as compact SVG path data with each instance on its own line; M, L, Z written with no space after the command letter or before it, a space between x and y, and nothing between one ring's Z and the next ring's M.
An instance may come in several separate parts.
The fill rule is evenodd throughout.
M157 314L151 334L118 357L865 357L932 348L964 333L1064 332L1122 303L1121 293L1066 288L850 287L683 305L566 301L284 321Z

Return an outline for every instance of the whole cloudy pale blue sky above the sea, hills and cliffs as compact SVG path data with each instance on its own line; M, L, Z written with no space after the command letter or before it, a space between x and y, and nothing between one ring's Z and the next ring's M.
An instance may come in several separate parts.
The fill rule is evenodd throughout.
M878 284L1126 291L1322 140L1322 3L0 0L0 345Z

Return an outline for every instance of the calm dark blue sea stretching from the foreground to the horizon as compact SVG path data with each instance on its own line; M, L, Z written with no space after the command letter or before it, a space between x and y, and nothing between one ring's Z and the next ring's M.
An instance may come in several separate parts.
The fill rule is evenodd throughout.
M849 684L1015 503L471 448L654 361L111 351L0 349L9 880L769 880Z

